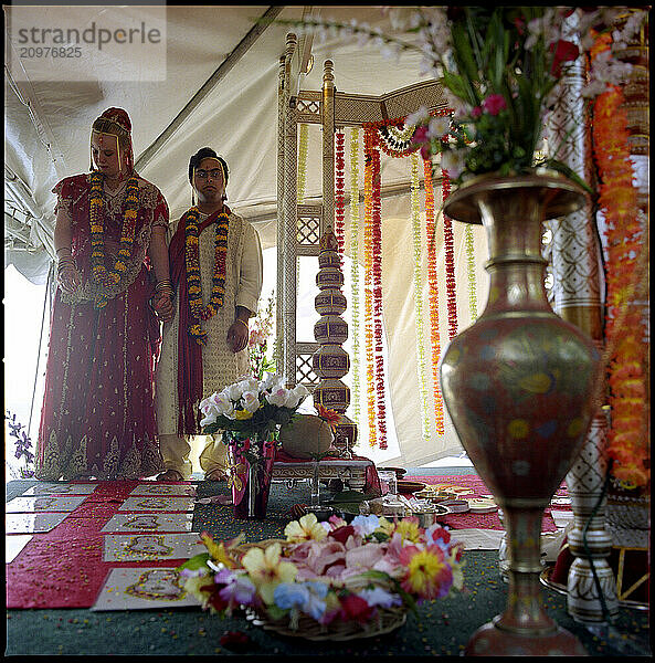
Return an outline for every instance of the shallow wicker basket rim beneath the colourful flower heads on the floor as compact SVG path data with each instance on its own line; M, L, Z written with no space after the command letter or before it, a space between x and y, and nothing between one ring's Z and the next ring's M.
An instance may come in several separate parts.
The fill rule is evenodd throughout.
M284 549L288 544L283 539L264 539L261 541L246 543L239 546L239 549L245 552L251 548L266 548L272 544L279 544ZM356 589L358 582L370 583L370 580L351 579L351 589ZM319 624L316 620L306 614L298 615L298 623L292 627L290 619L272 620L267 614L257 612L252 608L246 609L246 619L256 627L262 627L266 631L273 631L278 635L288 635L292 638L304 638L305 640L358 640L360 638L374 638L391 633L402 627L406 619L406 607L380 608L369 623L360 624L355 621L334 620L329 624Z

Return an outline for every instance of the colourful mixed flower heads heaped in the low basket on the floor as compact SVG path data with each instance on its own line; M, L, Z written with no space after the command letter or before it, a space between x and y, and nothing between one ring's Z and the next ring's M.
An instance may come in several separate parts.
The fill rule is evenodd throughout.
M414 517L357 516L348 525L310 513L289 523L285 536L241 545L243 535L216 543L203 533L207 552L180 567L186 589L221 615L245 610L287 634L318 639L329 631L338 639L383 632L389 614L398 627L408 609L464 583L462 544Z

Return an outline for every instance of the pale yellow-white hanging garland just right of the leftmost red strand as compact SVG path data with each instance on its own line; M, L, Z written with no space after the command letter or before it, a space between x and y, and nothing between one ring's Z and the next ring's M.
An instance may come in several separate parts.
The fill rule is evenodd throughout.
M359 129L350 130L350 315L352 320L352 400L359 424Z

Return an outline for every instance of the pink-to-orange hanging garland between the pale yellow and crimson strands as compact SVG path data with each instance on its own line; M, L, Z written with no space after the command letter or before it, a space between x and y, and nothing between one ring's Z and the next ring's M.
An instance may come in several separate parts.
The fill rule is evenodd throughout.
M369 444L378 442L376 421L376 368L373 348L373 156L371 131L365 131L365 220L363 220L363 255L365 255L365 337L367 356L367 406L369 417Z

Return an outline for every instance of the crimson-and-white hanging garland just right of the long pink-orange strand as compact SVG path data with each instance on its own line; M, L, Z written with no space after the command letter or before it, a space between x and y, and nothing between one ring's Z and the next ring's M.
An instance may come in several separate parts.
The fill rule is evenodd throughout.
M379 446L387 449L387 417L384 402L384 355L382 345L382 201L380 150L371 151L372 179L372 286L373 286L373 333L376 339L376 393Z

